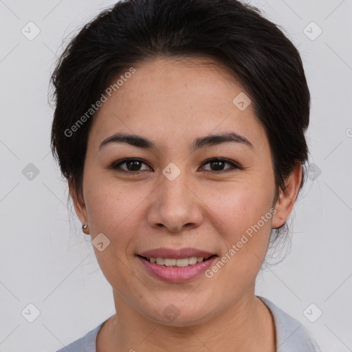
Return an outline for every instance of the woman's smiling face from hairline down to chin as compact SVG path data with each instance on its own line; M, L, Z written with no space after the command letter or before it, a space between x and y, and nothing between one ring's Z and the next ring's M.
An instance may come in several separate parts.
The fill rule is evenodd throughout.
M206 322L252 298L272 227L285 221L273 211L269 142L252 104L233 102L244 89L216 62L134 68L91 126L76 212L103 243L94 250L115 304L166 325ZM225 133L237 140L211 138ZM108 140L115 134L153 147ZM169 267L142 256L210 259Z

